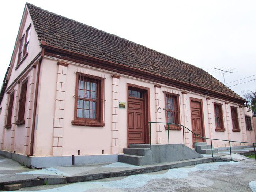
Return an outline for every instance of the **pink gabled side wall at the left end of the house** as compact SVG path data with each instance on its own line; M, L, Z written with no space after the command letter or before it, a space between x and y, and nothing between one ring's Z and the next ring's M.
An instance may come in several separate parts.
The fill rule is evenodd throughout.
M22 61L22 63L17 68L18 64L18 52L19 52L19 44L20 38L22 35L26 33L27 28L31 25L31 33L29 38L29 47L28 47L28 55ZM32 124L32 110L33 110L33 100L34 100L34 91L35 91L35 72L36 68L28 68L26 72L16 79L22 71L30 64L30 62L40 53L41 48L39 47L39 41L37 38L37 34L35 32L34 26L32 24L32 20L30 16L25 11L23 16L23 20L21 23L21 27L18 33L17 41L14 48L14 53L11 59L11 67L8 72L8 84L6 92L15 91L14 94L14 106L12 112L12 127L10 129L5 129L5 119L6 119L6 105L8 105L9 96L5 93L1 106L3 107L1 114L1 150L7 151L16 151L16 153L28 154L30 148L30 140L31 140L31 124ZM35 64L38 61L35 60ZM15 125L17 109L18 109L18 99L20 95L20 84L17 84L18 81L22 81L25 77L28 77L27 84L27 93L26 93L26 106L25 106L25 124L23 125Z

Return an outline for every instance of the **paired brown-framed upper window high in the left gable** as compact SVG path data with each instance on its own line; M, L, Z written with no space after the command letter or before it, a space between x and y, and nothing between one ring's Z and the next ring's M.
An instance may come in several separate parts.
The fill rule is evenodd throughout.
M31 25L27 28L26 33L20 39L19 45L19 56L18 56L18 64L25 59L27 56L28 48L29 48L29 37L30 37Z

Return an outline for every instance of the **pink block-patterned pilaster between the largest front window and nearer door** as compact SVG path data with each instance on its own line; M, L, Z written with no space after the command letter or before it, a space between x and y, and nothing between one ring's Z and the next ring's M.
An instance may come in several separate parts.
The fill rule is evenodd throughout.
M111 150L112 154L118 154L118 140L119 140L119 79L120 76L112 75L112 138L111 138Z

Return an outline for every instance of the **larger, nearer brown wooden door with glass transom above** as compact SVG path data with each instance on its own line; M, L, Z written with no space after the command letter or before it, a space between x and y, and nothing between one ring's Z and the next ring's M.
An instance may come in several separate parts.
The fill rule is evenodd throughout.
M144 144L146 126L143 93L132 90L128 92L128 143Z

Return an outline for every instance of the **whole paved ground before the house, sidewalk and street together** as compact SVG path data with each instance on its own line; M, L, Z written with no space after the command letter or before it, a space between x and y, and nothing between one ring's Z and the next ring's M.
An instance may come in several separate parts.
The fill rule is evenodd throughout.
M216 173L211 172L212 170L219 170L219 166L222 167L223 165L221 163L223 162L217 162L217 164L214 165L214 163L206 164L204 162L211 162L212 157L211 155L204 155L204 158L198 158L198 159L190 159L187 161L179 161L179 162L168 162L168 163L159 163L155 165L145 165L145 166L134 166L130 164L125 163L106 163L106 164L94 164L94 165L80 165L80 166L63 166L63 167L48 167L45 169L37 170L37 169L29 169L25 166L20 165L19 163L13 161L12 159L8 159L5 157L0 156L0 187L7 185L7 184L13 184L13 183L22 183L23 188L22 190L28 190L24 187L26 186L33 186L33 185L44 185L45 181L48 182L48 184L60 184L60 183L67 183L67 182L79 182L76 184L65 184L66 187L62 186L61 189L58 187L56 188L55 185L49 185L46 186L46 188L54 188L54 190L65 190L67 188L67 191L86 191L87 189L90 191L95 191L97 188L104 188L105 191L134 191L135 189L138 191L161 191L161 187L163 187L162 191L187 191L188 189L185 189L189 187L189 191L200 191L207 189L208 187L216 188L220 190L217 186L221 185L222 183L226 183L231 181L230 177L235 178L237 182L234 180L233 183L230 186L234 187L238 181L241 183L239 184L241 189L246 190L254 190L256 192L256 164L255 159L248 159L243 155L236 154L236 153L242 153L242 152L248 152L253 150L253 148L243 148L240 150L232 150L234 153L232 155L232 159L238 162L224 162L223 165L229 166L235 166L233 168L230 167L230 171L225 171L225 174L219 174L219 176L214 179L211 178L211 176L217 175ZM230 159L230 152L228 150L226 151L220 151L217 154L214 154L215 159ZM186 167L186 169L170 169L169 168L175 168L175 167L184 167L187 165L195 165L199 163L204 163L201 165L196 165L194 167ZM220 163L220 164L218 164ZM226 163L226 164L225 164ZM217 166L218 165L218 166ZM202 167L214 167L210 168L209 170L206 170ZM199 168L198 168L199 167ZM201 168L200 168L201 167ZM217 167L217 168L216 168ZM225 167L225 166L224 166ZM238 169L239 168L239 169ZM163 170L162 172L155 172L158 170ZM237 173L233 174L232 171L236 170ZM185 170L185 171L181 171ZM240 172L238 171L240 170ZM153 173L148 173L152 172ZM200 175L201 173L209 172L209 175ZM252 173L251 173L252 172ZM130 174L138 174L138 173L148 173L129 177L117 177L117 176L128 176ZM186 173L186 174L185 174ZM200 174L199 174L200 173ZM169 175L171 174L171 176ZM148 176L147 176L148 175ZM192 178L190 176L192 175ZM193 176L194 175L194 176ZM200 177L199 177L200 175ZM241 175L241 176L240 176ZM176 178L178 176L178 178ZM97 182L90 181L90 182L81 182L81 181L87 181L97 178L106 178L106 177L114 177L114 178L108 178L105 180L100 180ZM222 178L223 177L223 178ZM240 178L241 177L241 178ZM195 178L195 179L194 179ZM203 179L202 179L203 178ZM208 178L208 179L206 179ZM222 178L221 181L218 179ZM246 180L247 178L247 180ZM243 180L242 180L243 179ZM195 182L195 180L198 182ZM215 180L213 183L210 182L211 180ZM125 182L131 181L132 184L126 184ZM179 187L179 185L176 186L178 183L177 181L182 181L181 184L183 187ZM203 182L201 182L203 181ZM249 182L251 182L251 189ZM103 184L104 185L103 185ZM160 184L160 186L157 186L157 184ZM193 189L193 185L191 183L197 183L198 186L204 186L204 187L196 187ZM169 185L171 184L171 185ZM203 185L204 184L204 185ZM242 187L244 184L244 187ZM87 186L89 185L89 187ZM209 186L208 186L209 185ZM76 186L78 189L76 189ZM84 187L87 186L87 187ZM91 186L91 187L90 187ZM95 188L95 186L97 188ZM103 187L102 187L103 186ZM127 187L125 187L127 186ZM150 188L152 187L152 189ZM175 187L176 186L176 187ZM207 187L208 186L208 187ZM254 187L253 187L254 186ZM44 188L43 186L42 188ZM71 190L72 188L76 190ZM149 188L148 188L149 187ZM192 188L191 188L192 187ZM206 188L207 187L207 188ZM209 188L209 191L212 191L213 188ZM248 188L249 187L249 188ZM113 188L113 190L112 190ZM159 190L158 190L159 188ZM170 190L168 189L170 188ZM240 189L239 187L237 189ZM38 190L39 188L35 188L33 190ZM227 189L230 189L227 187ZM30 189L29 189L30 190ZM53 189L52 189L53 190ZM98 189L97 189L98 190ZM102 191L103 189L101 189ZM104 191L103 190L103 191ZM223 191L223 189L221 189ZM224 190L225 191L225 190ZM233 190L231 190L233 191ZM236 190L237 191L237 190ZM238 190L239 191L239 190Z

